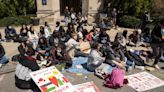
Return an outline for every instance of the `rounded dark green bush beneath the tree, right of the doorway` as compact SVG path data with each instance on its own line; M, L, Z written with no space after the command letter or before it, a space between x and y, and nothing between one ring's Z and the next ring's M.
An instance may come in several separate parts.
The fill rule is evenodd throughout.
M142 21L139 18L133 16L124 15L118 20L118 26L126 28L138 28Z

